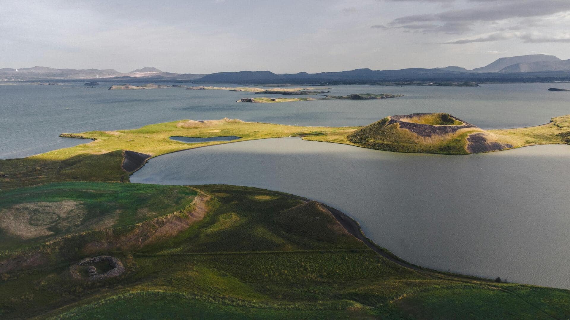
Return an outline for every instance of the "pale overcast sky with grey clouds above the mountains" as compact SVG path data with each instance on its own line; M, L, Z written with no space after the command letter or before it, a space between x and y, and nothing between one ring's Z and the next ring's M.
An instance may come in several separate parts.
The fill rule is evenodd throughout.
M0 0L0 68L472 69L569 49L570 0Z

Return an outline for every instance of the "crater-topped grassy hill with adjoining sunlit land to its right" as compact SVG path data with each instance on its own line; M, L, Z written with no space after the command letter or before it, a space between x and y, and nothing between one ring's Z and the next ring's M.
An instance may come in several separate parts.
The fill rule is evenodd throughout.
M347 140L370 149L441 154L499 151L528 145L568 143L568 116L530 128L483 130L449 113L386 117L349 133Z

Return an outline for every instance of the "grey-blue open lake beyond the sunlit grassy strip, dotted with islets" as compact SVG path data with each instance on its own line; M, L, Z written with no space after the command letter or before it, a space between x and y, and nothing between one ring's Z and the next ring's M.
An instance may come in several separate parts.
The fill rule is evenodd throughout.
M73 84L77 85L77 84ZM81 84L80 84L81 85ZM449 112L482 128L539 125L570 113L570 84L488 84L477 88L333 86L331 95L400 93L386 100L325 100L253 104L253 93L219 90L62 89L0 85L0 159L26 157L83 141L62 132L132 129L180 119L223 117L297 125L367 125L392 114ZM278 95L265 95L279 97Z

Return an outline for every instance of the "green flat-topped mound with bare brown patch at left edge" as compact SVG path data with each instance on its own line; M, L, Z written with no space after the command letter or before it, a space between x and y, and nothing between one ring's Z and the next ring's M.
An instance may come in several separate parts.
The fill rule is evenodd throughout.
M48 183L0 191L0 249L136 224L181 210L196 194L184 186L94 182Z

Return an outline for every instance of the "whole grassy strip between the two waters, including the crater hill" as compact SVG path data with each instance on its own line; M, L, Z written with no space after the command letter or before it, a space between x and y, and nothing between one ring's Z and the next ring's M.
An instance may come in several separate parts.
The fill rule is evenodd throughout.
M440 125L433 125L435 123ZM173 136L242 138L185 143L170 139ZM549 124L541 126L506 130L482 130L441 113L438 116L412 114L386 117L364 127L291 126L224 118L172 121L132 130L64 133L62 137L93 141L27 158L0 160L0 190L56 181L128 182L132 171L123 169L125 152L133 154L129 151L135 151L145 157L156 157L220 143L291 136L387 151L469 154L528 145L570 143L570 116L552 118ZM125 167L133 167L134 171L140 166Z

